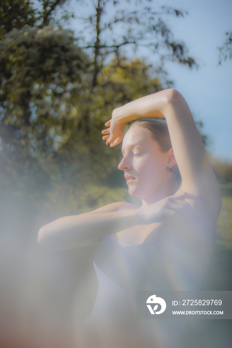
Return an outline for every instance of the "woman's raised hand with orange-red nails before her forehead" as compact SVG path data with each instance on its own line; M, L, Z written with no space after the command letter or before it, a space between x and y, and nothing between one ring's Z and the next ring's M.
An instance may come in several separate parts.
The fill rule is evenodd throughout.
M114 118L114 113L112 115L112 119L110 121L107 121L105 123L107 129L104 129L102 131L102 134L107 134L103 136L103 140L106 140L106 144L110 145L111 147L114 147L118 144L120 144L124 134L125 134L125 127L124 127L124 123L119 123L118 121L116 121L116 119Z

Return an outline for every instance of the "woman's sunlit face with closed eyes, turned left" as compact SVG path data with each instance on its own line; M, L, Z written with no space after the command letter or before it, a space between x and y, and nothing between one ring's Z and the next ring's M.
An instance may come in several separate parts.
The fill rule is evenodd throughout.
M169 152L163 153L148 129L131 127L125 134L118 169L124 171L129 194L155 196L167 183Z

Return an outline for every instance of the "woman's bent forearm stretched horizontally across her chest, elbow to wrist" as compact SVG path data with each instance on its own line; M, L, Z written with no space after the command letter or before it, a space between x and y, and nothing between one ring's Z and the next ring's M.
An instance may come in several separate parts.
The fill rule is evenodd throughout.
M135 209L67 216L43 226L39 230L38 243L51 250L88 246L107 235L139 224Z

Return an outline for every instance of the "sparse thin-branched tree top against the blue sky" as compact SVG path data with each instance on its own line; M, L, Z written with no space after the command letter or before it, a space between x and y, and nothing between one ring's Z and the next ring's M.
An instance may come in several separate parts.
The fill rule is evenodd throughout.
M118 56L123 48L132 46L135 50L149 49L153 55L156 71L163 70L165 60L177 61L192 68L196 61L188 56L183 42L174 40L164 17L183 17L186 11L157 6L153 0L76 0L79 30L77 35L83 49L90 49L93 55L93 83L111 54ZM149 51L148 51L149 52Z

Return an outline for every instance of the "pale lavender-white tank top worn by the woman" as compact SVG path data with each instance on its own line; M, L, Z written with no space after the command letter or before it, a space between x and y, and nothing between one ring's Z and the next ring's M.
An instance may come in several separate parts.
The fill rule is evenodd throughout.
M149 344L155 347L154 342L167 339L166 330L172 337L172 347L178 347L183 322L179 322L177 334L178 330L173 326L173 320L166 323L166 329L162 331L163 324L157 325L157 321L140 320L138 323L136 319L137 290L173 290L172 276L168 274L163 262L161 243L159 237L152 242L139 245L124 243L113 235L102 239L94 258L99 288L93 311L83 323L84 341L81 347L114 348L119 338L125 341L126 337L134 337L135 343L140 342L140 338L146 340L142 341L141 347L149 347ZM201 275L199 273L196 277L194 274L194 279L200 279ZM187 276L186 274L185 277ZM189 281L194 285L191 275L189 276ZM173 281L175 284L176 279ZM135 343L133 347L136 347ZM119 345L122 343L117 342L116 347L123 347ZM160 347L166 348L165 345L167 342ZM128 345L127 347L130 348Z

